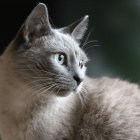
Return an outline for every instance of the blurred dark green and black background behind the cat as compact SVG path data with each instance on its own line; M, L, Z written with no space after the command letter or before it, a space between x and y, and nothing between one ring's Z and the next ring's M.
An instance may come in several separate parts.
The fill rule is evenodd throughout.
M139 0L19 0L0 3L0 53L15 36L33 7L44 2L56 27L88 14L84 50L91 77L119 77L140 83ZM83 41L84 42L84 41Z

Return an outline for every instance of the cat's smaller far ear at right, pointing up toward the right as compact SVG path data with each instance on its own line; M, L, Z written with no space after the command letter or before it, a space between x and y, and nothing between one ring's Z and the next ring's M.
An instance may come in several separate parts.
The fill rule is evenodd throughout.
M86 15L82 17L81 19L77 20L76 22L72 23L71 25L62 28L61 30L64 33L69 33L72 35L72 37L80 43L80 40L83 38L87 26L88 26L89 16Z

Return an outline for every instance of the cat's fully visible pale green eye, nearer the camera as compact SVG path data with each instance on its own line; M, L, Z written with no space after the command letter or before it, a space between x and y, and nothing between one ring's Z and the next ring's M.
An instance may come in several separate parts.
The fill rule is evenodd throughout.
M65 63L65 61L66 61L65 55L62 54L62 53L55 54L54 59L60 65L63 65Z

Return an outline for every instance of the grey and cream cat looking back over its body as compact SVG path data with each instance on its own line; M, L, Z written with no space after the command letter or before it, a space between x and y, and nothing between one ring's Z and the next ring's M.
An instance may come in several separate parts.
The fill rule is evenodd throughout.
M139 140L140 89L86 76L88 16L55 29L39 3L0 57L2 140Z

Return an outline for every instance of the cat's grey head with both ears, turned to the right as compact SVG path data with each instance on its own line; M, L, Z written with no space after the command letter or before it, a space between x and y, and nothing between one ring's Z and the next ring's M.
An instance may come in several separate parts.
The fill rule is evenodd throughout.
M15 77L39 92L63 95L76 91L85 78L88 58L79 47L87 29L88 16L54 29L47 7L38 4L5 51Z

